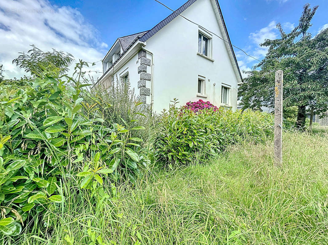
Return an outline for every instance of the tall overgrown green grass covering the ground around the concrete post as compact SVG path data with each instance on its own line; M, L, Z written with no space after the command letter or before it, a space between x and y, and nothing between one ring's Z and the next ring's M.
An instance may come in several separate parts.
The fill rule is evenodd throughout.
M281 169L272 141L245 143L209 164L149 172L97 205L88 190L63 190L53 227L35 220L7 244L327 244L328 134L285 133L283 147Z

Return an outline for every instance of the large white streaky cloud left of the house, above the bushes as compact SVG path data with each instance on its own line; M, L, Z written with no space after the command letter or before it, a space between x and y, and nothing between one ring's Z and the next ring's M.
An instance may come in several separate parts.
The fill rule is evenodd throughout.
M11 61L18 52L31 49L31 44L43 51L69 52L76 60L89 62L99 61L107 51L97 29L77 9L58 8L47 0L7 0L0 1L0 10L0 64L8 78L24 74ZM93 70L101 72L101 62Z

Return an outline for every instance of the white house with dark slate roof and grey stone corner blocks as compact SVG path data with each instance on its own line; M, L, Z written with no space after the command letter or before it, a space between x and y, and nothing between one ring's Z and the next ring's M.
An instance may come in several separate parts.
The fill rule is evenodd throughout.
M151 30L118 38L98 82L109 88L116 75L129 76L138 99L156 112L173 98L236 110L241 74L218 1L189 0Z

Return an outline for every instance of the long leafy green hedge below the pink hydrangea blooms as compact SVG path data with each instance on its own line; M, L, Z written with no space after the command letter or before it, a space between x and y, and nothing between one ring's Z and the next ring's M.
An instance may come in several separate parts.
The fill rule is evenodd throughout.
M271 114L223 107L196 112L174 103L163 113L154 141L155 156L164 162L206 161L228 145L246 139L259 142L272 134Z

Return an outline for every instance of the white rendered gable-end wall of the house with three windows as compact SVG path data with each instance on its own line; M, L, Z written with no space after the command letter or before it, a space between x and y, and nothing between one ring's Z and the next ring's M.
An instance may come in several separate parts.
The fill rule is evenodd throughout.
M182 15L222 37L211 0L196 1ZM221 84L231 86L230 105L237 108L237 77L224 41L212 35L212 59L197 55L199 27L177 16L153 37L145 48L154 53L154 110L203 99L221 106ZM134 61L135 63L135 61ZM198 75L205 77L207 98L197 96ZM132 78L130 77L130 80ZM150 97L150 96L147 96Z

